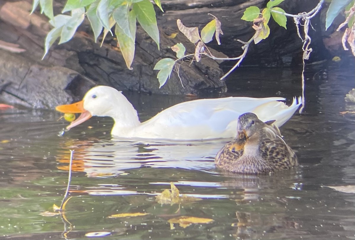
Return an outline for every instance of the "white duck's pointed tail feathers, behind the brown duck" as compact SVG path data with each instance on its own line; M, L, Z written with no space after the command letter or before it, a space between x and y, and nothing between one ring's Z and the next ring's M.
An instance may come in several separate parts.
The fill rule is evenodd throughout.
M269 102L258 106L253 110L258 118L263 121L275 120L274 124L278 127L288 121L297 109L302 105L301 97L294 97L290 106L283 102Z

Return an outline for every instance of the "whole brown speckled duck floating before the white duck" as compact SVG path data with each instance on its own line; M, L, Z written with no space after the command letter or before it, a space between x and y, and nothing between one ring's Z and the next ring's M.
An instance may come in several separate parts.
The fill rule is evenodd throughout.
M239 116L237 137L219 150L215 164L245 174L273 173L298 165L297 156L285 143L274 121L262 122L253 113Z

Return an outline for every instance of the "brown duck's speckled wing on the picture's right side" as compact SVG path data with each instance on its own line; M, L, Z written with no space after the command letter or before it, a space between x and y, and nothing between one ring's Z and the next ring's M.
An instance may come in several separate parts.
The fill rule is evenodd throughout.
M285 143L281 136L264 138L261 142L262 158L275 166L275 169L289 169L298 165L295 152Z

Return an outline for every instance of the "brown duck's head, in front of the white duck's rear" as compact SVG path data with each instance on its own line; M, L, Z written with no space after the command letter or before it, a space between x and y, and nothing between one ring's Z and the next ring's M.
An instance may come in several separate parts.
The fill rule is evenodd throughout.
M237 124L238 138L245 139L245 141L253 136L255 133L260 132L263 127L270 125L275 120L263 122L258 119L254 113L244 113L239 116Z

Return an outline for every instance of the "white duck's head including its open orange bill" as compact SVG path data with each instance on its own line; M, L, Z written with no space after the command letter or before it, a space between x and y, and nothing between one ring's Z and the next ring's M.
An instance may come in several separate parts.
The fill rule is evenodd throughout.
M55 108L61 113L81 113L81 115L66 128L69 130L92 116L110 116L120 119L120 116L133 114L137 111L127 98L115 88L108 86L96 86L91 88L79 102L60 105Z

